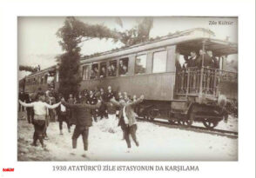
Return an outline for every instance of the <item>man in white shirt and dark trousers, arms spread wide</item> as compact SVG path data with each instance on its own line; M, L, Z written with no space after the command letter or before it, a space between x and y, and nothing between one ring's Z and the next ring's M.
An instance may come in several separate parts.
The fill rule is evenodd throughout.
M42 147L44 148L44 125L45 125L45 115L47 112L47 109L56 109L59 105L60 102L57 104L50 105L45 101L45 96L44 94L38 94L38 101L37 102L30 102L30 103L25 103L19 100L19 103L23 105L24 107L30 107L34 109L34 127L35 127L35 132L33 136L33 146L37 146L37 140L41 143Z

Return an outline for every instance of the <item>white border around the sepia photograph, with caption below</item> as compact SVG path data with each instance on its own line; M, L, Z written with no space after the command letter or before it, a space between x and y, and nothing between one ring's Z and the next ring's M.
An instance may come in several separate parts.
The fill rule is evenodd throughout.
M1 1L0 1L1 2ZM134 172L53 173L52 165L199 165L199 172L137 172L138 176L255 177L255 2L93 1L0 3L0 175L3 177L111 176ZM33 1L34 2L34 1ZM59 1L60 2L60 1ZM71 2L71 1L70 1ZM72 1L75 2L75 1ZM92 1L91 1L92 2ZM140 2L140 3L138 3ZM178 3L179 2L179 3ZM17 16L239 16L239 162L17 162ZM35 44L37 45L37 44ZM61 151L61 149L60 149ZM15 168L3 172L3 168Z

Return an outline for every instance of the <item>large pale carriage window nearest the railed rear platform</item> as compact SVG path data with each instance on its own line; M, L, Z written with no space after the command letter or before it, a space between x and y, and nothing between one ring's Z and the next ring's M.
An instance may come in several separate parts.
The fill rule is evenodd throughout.
M153 73L160 73L166 71L167 51L160 51L153 53Z

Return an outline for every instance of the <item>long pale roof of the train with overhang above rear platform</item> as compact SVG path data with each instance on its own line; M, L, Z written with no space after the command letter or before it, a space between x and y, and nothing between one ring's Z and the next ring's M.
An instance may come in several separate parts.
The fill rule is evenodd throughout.
M125 48L105 51L103 53L98 53L97 56L84 56L81 57L81 64L97 62L118 56L130 55L132 53L136 54L141 51L161 48L165 46L172 46L176 44L180 46L180 49L183 50L184 53L189 54L191 49L200 49L203 41L205 41L205 49L211 49L212 51L214 51L214 55L216 56L237 53L237 43L230 43L227 41L214 39L214 33L211 30L206 30L204 28L195 28L191 30L179 31L168 36L161 36L153 41L138 43ZM30 78L31 76L37 76L44 72L50 71L51 69L56 69L56 65L32 73L26 77Z

